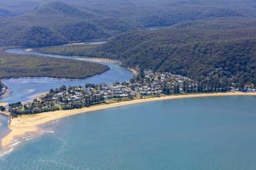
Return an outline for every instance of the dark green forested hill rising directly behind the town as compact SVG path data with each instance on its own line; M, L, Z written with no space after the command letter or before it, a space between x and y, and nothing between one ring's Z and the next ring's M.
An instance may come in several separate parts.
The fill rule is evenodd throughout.
M255 28L133 31L100 46L60 46L41 52L121 59L125 66L168 71L199 80L214 74L233 78L241 87L250 82L256 84Z

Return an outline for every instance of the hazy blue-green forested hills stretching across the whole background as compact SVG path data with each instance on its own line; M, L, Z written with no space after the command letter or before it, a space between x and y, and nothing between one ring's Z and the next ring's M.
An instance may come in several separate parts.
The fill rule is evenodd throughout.
M242 0L0 0L0 3L5 9L2 12L0 9L3 18L0 46L52 46L195 20L256 18L254 3Z

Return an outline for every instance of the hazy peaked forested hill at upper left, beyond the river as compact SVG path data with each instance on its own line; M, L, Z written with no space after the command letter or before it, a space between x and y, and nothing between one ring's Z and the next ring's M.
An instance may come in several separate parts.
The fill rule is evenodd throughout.
M106 39L127 31L126 23L73 5L47 3L31 14L0 20L0 46L48 46Z

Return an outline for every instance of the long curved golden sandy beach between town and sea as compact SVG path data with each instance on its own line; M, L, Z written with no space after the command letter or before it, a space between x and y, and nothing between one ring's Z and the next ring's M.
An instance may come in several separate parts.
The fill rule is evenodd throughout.
M164 96L164 97L154 97L148 99L137 99L131 101L122 101L119 103L113 104L102 104L95 105L89 108L81 108L81 109L73 109L68 111L55 111L55 112L45 112L39 114L31 114L31 115L22 115L16 118L11 119L11 123L9 128L11 133L9 133L6 137L2 139L2 146L8 146L13 141L15 137L23 135L27 132L37 131L38 128L36 126L45 124L46 122L50 122L53 120L57 120L59 118L72 116L75 114L98 111L101 109L120 107L123 105L130 104L138 104L145 103L150 101L160 101L160 100L171 100L171 99L183 99L190 97L214 97L214 96L256 96L256 93L243 93L243 92L226 92L226 93L215 93L215 94L193 94L193 95L176 95L176 96Z

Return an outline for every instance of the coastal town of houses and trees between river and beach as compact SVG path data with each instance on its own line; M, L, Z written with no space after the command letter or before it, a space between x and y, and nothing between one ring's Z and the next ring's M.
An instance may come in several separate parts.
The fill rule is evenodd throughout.
M171 73L154 73L143 70L129 82L108 84L85 84L85 86L61 86L51 89L48 94L28 103L9 104L11 116L19 114L36 114L49 111L79 109L97 104L110 104L119 101L146 99L166 95L192 94L201 92L244 91L233 87L234 84L221 83L216 76L208 82L198 83L194 80Z

